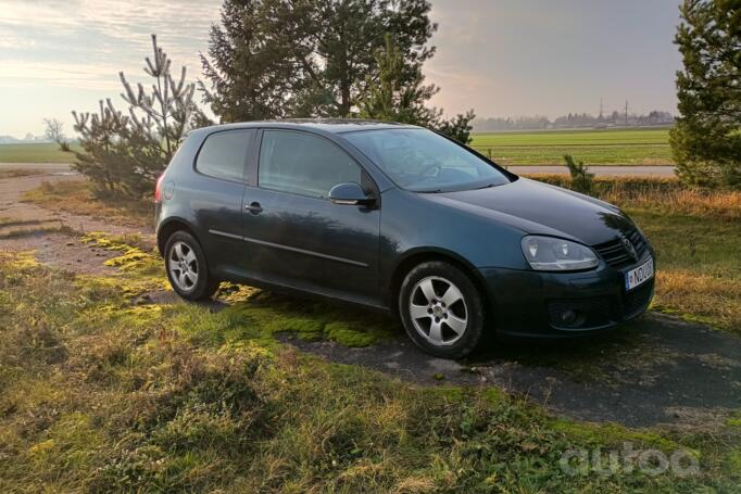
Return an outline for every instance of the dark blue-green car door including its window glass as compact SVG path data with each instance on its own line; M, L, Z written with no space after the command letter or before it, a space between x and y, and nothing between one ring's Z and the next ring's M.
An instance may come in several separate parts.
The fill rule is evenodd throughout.
M249 270L275 283L377 303L380 210L332 204L343 182L374 187L339 145L304 131L261 131L255 187L243 198Z

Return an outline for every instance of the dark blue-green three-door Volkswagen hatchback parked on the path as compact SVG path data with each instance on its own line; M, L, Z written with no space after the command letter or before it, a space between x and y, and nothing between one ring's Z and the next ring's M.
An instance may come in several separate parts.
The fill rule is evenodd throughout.
M653 295L653 251L620 210L410 125L193 130L155 201L180 296L210 297L228 280L355 303L399 316L442 357L467 355L487 332L611 328Z

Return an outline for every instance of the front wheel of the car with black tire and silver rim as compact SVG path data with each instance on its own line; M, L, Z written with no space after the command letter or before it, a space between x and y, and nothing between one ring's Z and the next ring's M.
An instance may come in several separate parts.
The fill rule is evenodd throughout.
M443 358L476 350L487 320L483 297L468 275L441 261L419 264L406 275L399 314L410 339Z

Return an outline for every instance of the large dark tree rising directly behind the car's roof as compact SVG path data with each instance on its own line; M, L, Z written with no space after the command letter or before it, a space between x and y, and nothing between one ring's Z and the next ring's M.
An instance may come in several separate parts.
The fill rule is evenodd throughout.
M412 78L435 52L427 0L225 0L204 101L223 122L352 116L390 34Z

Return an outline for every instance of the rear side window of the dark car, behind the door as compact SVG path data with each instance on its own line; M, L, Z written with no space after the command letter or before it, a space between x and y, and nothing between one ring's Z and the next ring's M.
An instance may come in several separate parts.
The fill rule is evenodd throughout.
M196 159L196 169L210 177L243 180L247 151L254 132L224 130L206 137Z

